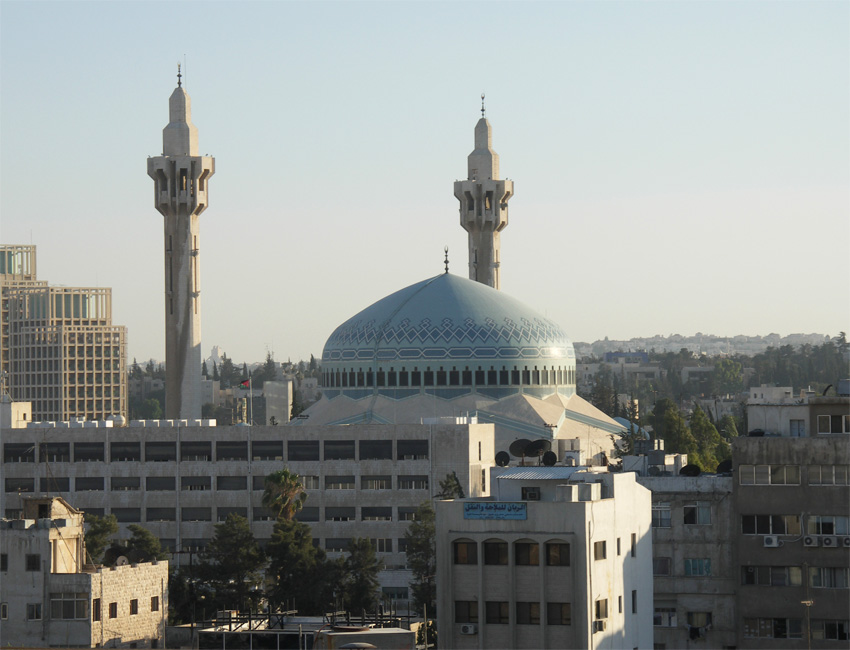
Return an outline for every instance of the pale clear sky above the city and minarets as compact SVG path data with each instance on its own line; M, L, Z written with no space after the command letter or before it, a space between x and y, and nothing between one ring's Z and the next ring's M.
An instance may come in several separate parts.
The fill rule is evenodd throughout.
M576 341L850 330L850 3L0 3L0 241L113 288L164 358L161 151L176 64L201 153L203 352L321 355L466 274L453 182L482 91L502 289Z

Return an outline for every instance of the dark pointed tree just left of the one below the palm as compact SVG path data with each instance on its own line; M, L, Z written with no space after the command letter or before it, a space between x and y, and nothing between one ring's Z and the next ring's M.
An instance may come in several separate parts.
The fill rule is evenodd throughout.
M201 555L198 575L212 587L219 608L251 611L259 598L264 563L248 520L231 512L216 524L213 539Z

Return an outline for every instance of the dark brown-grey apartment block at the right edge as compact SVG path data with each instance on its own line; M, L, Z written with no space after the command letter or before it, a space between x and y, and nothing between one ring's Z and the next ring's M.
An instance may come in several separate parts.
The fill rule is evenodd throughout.
M738 648L850 641L850 439L831 424L811 428L843 423L849 406L848 398L810 399L806 437L732 446Z

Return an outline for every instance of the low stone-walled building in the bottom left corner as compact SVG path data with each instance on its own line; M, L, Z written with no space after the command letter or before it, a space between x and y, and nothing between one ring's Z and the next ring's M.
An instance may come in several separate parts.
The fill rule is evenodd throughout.
M168 615L168 563L85 562L83 513L25 498L0 519L0 645L157 648Z

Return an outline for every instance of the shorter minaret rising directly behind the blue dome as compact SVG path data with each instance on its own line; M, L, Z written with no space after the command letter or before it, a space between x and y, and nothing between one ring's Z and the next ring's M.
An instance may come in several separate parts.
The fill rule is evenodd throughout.
M493 151L492 140L481 95L475 149L467 159L469 175L465 181L455 181L455 196L460 201L460 225L469 233L469 279L499 289L500 233L508 225L514 184L499 180L499 154Z

